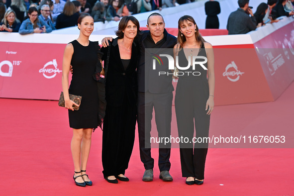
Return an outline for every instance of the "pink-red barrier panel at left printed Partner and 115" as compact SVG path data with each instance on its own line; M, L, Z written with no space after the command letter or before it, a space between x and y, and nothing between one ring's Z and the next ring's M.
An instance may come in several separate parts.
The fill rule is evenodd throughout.
M66 44L1 42L1 98L59 98Z

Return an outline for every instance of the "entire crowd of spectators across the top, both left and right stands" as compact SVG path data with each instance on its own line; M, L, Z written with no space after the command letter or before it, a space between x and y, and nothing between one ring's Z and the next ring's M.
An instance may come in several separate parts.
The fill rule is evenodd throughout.
M197 0L0 0L0 31L18 32L21 24L21 34L48 33L76 26L79 15L85 12L90 13L95 22L104 23L105 20L119 21L125 15L193 1ZM230 14L227 23L229 34L247 33L268 22L279 21L277 18L280 16L294 15L294 0L268 0L261 3L254 14L249 0L238 0L238 3L243 7ZM29 10L35 10L31 7L37 10L37 16L30 13ZM218 28L219 3L216 0L207 1L205 13L205 28Z

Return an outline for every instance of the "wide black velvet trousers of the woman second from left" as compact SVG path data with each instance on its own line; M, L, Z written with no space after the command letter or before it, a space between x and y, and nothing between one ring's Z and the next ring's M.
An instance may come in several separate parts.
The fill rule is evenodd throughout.
M103 176L124 174L135 140L136 105L124 99L119 107L106 106L102 134Z

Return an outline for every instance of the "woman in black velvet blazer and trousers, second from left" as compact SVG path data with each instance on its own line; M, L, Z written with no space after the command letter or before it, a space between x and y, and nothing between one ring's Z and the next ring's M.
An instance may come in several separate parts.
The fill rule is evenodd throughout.
M139 33L139 22L124 16L115 38L107 48L101 48L104 65L110 47L106 72L106 111L103 121L102 165L103 176L109 183L129 181L124 176L133 150L136 125L135 73L139 47L133 42ZM104 68L105 69L105 68Z

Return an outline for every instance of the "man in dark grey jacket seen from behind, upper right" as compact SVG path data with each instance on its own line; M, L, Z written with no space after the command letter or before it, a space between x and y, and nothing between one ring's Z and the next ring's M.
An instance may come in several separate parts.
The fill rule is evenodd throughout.
M256 29L256 19L249 7L249 0L238 0L238 4L239 8L229 15L227 23L229 35L246 34Z

